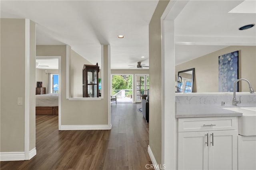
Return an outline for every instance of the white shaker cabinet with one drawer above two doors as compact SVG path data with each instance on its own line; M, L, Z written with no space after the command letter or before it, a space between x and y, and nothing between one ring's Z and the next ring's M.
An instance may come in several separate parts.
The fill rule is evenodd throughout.
M178 119L178 170L237 170L237 118Z

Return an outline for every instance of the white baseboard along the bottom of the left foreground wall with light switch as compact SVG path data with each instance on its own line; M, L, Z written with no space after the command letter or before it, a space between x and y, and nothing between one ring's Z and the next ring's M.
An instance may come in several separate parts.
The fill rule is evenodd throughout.
M36 148L29 151L28 159L36 155ZM0 161L25 160L25 152L0 152Z

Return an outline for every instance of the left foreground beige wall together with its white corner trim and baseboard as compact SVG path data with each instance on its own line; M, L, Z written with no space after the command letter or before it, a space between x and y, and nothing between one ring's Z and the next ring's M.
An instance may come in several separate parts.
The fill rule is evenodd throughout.
M26 151L35 148L35 91L28 88L35 84L35 30L30 20L1 19L1 158L3 152L21 152L14 158L24 160Z

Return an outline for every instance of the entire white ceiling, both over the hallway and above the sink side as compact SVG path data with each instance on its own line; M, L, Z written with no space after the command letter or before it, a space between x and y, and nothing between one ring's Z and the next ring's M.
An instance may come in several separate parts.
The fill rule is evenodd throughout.
M249 6L255 8L246 7L246 13L241 9L228 13L242 2L176 2L177 8L183 8L175 19L176 64L229 45L256 45L255 27L238 30L243 25L255 24L255 0L249 1L252 3ZM148 24L158 0L1 0L0 3L1 18L28 18L37 23L37 45L68 44L92 64L100 64L100 45L110 44L112 69L130 68L128 65L136 65L138 61L148 65ZM179 3L182 5L178 6ZM118 34L125 38L116 38Z

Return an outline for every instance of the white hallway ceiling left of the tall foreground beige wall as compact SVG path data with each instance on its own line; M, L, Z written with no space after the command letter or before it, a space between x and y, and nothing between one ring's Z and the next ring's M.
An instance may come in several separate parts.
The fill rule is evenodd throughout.
M68 44L92 64L111 46L111 68L148 64L148 25L158 0L3 1L1 18L37 23L37 45ZM118 39L119 34L125 35ZM142 60L141 56L145 56Z

